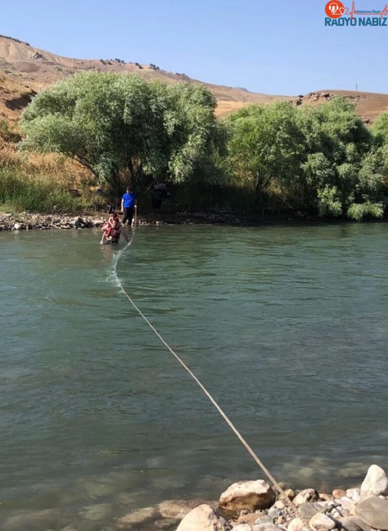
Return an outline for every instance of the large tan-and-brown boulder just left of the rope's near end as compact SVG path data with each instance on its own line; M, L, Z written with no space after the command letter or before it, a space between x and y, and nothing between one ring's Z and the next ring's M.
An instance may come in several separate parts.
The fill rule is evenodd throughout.
M219 507L228 512L266 509L274 501L272 487L263 479L239 481L221 494Z

